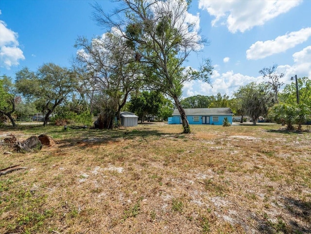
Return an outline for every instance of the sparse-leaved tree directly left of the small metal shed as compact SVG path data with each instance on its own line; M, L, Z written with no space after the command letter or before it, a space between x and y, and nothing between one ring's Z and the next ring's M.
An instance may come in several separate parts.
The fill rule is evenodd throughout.
M97 95L102 104L99 126L111 129L115 118L121 123L120 111L129 93L140 87L133 50L115 29L90 42L79 37L75 46L80 49L76 69L83 74L86 94L91 94L92 102Z

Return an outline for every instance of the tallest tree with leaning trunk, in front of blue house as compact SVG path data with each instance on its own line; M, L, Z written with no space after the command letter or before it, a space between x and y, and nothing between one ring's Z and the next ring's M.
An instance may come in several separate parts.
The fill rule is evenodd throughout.
M191 52L198 52L207 41L198 35L195 22L189 19L186 0L121 0L112 15L95 4L94 19L105 28L117 28L128 45L136 51L140 72L151 89L173 98L179 110L184 133L189 122L180 103L184 82L194 79L209 81L212 66L207 59L199 71L185 69Z

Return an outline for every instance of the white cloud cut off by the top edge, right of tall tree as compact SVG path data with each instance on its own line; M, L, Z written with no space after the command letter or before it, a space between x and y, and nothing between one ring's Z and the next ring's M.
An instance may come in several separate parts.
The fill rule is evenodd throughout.
M212 26L220 21L231 33L243 33L288 12L300 2L302 0L199 0L199 8L215 17Z

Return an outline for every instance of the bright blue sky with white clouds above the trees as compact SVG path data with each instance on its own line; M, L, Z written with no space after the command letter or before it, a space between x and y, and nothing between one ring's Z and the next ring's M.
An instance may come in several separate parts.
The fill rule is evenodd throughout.
M97 0L111 12L118 3ZM78 36L92 39L107 30L91 19L92 0L1 0L0 76L15 79L24 67L44 63L71 67ZM311 0L192 0L187 20L209 44L190 54L185 66L198 69L206 58L214 67L210 84L184 84L193 95L232 97L239 87L267 81L259 74L277 65L284 84L292 76L311 77Z

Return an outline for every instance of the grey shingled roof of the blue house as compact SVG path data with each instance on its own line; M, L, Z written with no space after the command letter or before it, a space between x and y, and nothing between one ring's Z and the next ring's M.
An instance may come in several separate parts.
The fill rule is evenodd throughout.
M232 115L230 108L185 108L186 115ZM174 109L173 115L180 115L178 109Z

